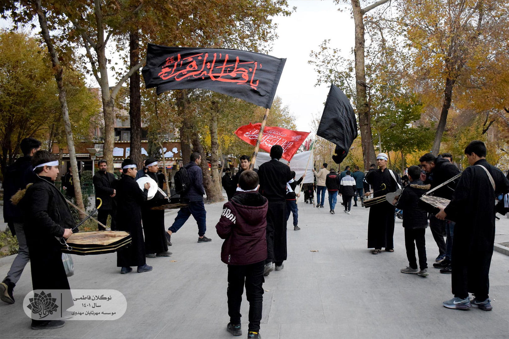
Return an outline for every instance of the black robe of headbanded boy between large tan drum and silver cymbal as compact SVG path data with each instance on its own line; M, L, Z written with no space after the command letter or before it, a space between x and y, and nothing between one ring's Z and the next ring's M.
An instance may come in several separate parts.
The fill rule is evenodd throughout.
M117 230L131 234L132 243L117 251L117 266L145 265L145 242L142 230L142 205L148 190L140 190L134 178L123 174L117 184Z

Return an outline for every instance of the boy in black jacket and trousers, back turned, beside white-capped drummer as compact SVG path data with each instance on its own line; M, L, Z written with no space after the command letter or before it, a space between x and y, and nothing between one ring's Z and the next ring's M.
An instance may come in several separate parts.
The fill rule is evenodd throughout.
M394 206L404 211L403 227L405 228L405 248L407 250L408 267L402 268L402 273L428 276L428 264L426 262L425 232L428 227L428 213L418 206L419 198L430 189L430 185L424 186L419 179L421 169L411 166L408 169L410 184L403 189L399 199L394 199ZM415 259L415 245L419 255L419 268Z

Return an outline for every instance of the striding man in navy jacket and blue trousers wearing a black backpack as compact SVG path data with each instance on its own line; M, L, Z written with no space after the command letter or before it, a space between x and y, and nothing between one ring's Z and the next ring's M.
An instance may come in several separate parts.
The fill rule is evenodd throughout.
M192 215L198 224L198 242L209 242L212 239L205 236L207 231L205 206L203 204L203 174L200 164L202 157L200 153L191 154L190 161L175 174L175 189L182 198L189 199L189 206L183 207L177 213L177 217L164 235L168 244L172 244L171 236L177 232Z

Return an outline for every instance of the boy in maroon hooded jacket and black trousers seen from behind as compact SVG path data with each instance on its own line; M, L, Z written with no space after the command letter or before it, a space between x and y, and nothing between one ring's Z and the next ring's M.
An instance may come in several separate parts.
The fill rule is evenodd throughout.
M244 284L249 301L248 338L260 338L262 320L263 270L267 259L268 201L260 193L258 174L243 171L237 192L224 204L216 225L217 234L224 239L221 261L228 264L228 332L241 335L240 303Z

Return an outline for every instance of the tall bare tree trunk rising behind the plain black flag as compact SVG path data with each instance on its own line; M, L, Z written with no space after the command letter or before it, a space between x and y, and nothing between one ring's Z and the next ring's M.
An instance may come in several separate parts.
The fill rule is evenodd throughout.
M367 103L366 96L366 74L364 67L364 11L360 7L359 0L351 0L353 9L353 18L355 23L355 88L357 93L356 108L359 115L359 129L362 145L362 158L364 160L364 168L369 168L370 164L375 163L375 147L370 141L371 121L370 107Z

